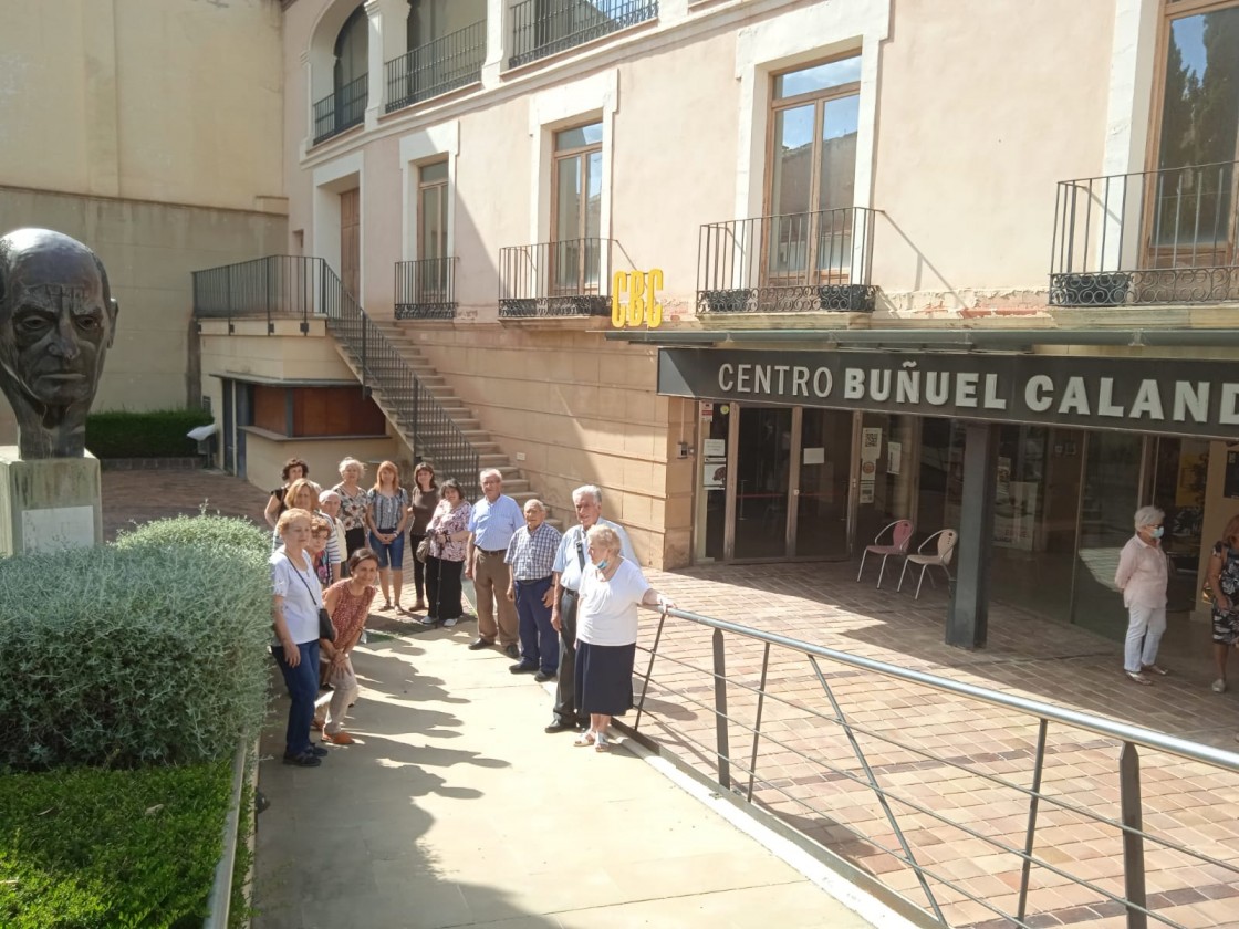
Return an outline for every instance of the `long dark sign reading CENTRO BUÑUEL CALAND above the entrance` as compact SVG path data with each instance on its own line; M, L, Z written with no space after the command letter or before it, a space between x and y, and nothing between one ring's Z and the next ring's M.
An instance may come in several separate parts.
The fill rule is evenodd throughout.
M1239 436L1239 364L1234 362L663 348L658 393L994 422Z

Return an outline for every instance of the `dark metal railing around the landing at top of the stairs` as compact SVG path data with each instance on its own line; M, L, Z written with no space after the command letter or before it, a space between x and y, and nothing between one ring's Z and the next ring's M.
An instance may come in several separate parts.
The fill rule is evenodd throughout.
M301 255L268 255L253 261L209 268L193 273L195 318L265 318L268 333L276 318L301 320L301 332L310 331L310 317L323 312L323 260Z

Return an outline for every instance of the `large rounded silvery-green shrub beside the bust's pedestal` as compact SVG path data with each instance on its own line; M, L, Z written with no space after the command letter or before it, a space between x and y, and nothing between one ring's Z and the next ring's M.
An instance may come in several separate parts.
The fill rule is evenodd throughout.
M266 706L270 543L182 517L0 560L0 768L227 757Z

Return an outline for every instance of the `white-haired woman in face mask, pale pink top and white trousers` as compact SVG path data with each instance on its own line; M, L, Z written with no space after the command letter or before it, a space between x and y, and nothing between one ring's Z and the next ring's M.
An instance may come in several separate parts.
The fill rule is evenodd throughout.
M1119 555L1114 583L1123 591L1127 608L1127 640L1123 652L1123 670L1136 684L1152 684L1149 674L1168 674L1157 665L1157 645L1166 632L1166 582L1170 562L1162 551L1162 520L1156 507L1136 510L1136 534Z

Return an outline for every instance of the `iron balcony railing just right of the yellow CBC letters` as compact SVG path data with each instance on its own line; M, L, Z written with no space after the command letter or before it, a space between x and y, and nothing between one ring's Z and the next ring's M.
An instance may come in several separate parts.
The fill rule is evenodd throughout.
M872 312L873 214L845 207L703 225L698 312Z

